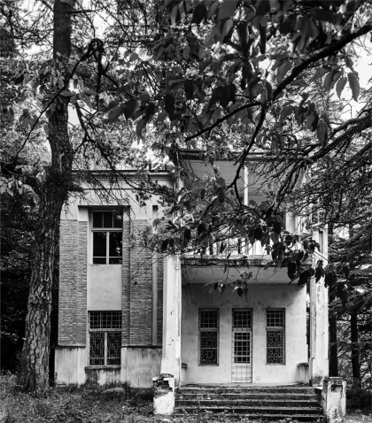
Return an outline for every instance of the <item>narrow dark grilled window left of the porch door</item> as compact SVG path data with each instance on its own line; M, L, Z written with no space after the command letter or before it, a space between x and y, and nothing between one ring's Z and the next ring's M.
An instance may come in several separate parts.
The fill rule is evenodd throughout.
M199 310L199 365L218 365L218 338L218 310Z

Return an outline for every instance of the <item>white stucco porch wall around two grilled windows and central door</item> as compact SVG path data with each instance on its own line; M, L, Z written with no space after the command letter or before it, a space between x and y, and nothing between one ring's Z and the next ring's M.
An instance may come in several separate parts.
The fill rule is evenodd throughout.
M292 285L252 284L247 298L227 288L221 295L211 286L182 287L182 383L231 382L232 309L252 309L252 383L298 380L298 363L307 361L306 288ZM266 309L285 308L285 365L266 364ZM218 366L198 365L198 309L220 309L220 359Z

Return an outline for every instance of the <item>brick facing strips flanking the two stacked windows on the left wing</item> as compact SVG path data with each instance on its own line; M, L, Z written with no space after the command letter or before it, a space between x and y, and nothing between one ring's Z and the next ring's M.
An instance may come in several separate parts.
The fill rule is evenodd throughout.
M147 219L124 212L122 265L122 345L152 343L152 254L144 248ZM85 345L87 331L88 223L61 220L58 344ZM163 257L158 257L158 343L162 340Z

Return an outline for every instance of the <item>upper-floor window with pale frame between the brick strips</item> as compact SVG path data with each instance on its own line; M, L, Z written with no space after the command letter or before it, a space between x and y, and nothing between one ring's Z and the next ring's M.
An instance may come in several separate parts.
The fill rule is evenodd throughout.
M93 265L121 265L122 212L92 212Z

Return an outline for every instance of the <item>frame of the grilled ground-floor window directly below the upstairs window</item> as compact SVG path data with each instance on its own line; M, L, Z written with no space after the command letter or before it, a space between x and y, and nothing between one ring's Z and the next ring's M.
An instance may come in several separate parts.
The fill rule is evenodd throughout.
M119 327L91 327L91 313L120 313L119 314L119 319L117 321L120 322L120 326ZM101 317L102 320L102 317ZM108 334L120 334L120 355L119 357L116 357L117 359L119 359L119 364L107 364L108 361ZM105 338L104 338L104 364L102 365L93 365L90 362L90 346L91 346L91 337L90 334L104 334ZM88 311L88 365L89 367L120 367L121 365L121 334L122 334L122 311L121 310L110 310L110 311L96 311L96 310L92 310L92 311Z

